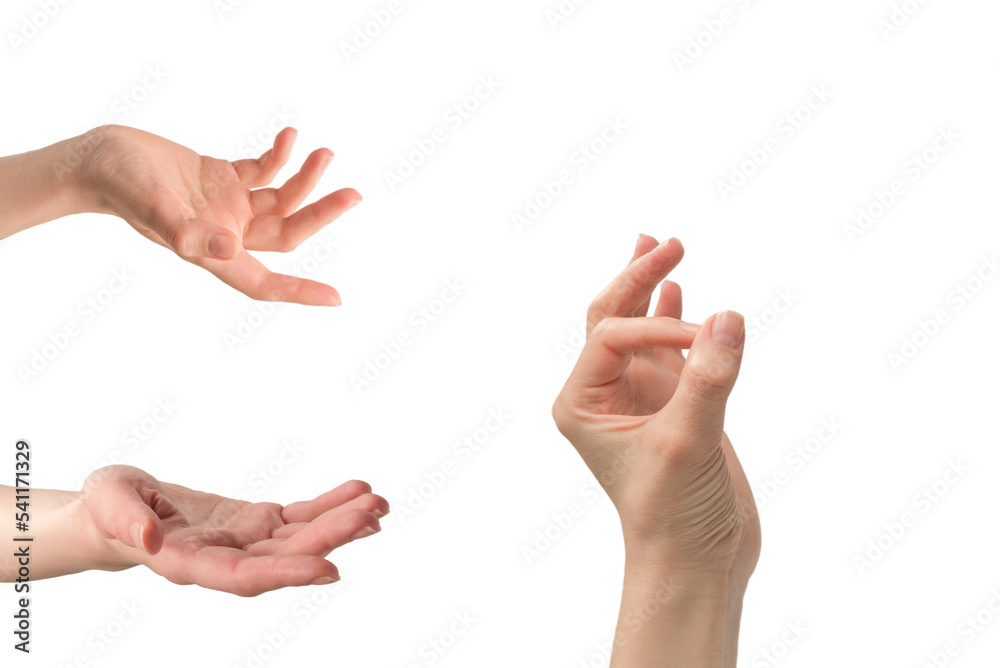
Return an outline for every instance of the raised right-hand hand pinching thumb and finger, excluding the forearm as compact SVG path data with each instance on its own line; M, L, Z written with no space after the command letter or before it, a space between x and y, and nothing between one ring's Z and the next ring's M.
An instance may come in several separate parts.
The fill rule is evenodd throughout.
M591 304L587 343L552 412L615 504L632 563L725 574L745 586L760 523L723 431L743 319L679 320L680 287L664 279L683 252L677 240L640 237L628 267Z

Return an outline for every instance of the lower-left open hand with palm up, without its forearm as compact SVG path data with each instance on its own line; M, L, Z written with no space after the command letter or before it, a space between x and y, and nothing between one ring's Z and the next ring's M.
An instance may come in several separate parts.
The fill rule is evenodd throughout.
M380 530L388 502L357 480L288 506L249 503L108 466L84 482L78 523L91 523L106 570L142 564L176 584L239 596L340 579L330 552Z

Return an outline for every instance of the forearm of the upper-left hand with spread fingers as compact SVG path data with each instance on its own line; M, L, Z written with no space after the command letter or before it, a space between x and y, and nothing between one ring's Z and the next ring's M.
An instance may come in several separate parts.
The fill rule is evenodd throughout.
M0 157L0 239L86 210L77 167L100 128L27 153Z

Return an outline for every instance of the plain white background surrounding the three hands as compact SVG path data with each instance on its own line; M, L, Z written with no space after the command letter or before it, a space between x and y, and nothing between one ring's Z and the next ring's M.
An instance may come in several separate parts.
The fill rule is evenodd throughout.
M344 306L279 305L267 318L110 217L0 243L9 461L27 438L37 487L78 488L123 451L163 480L283 503L362 478L394 508L381 534L334 553L344 580L326 590L239 599L144 569L41 582L27 663L605 665L616 517L549 407L587 304L645 232L685 244L674 277L686 319L730 308L752 328L727 421L764 531L740 665L917 668L949 641L947 665L994 665L1000 620L987 610L974 632L965 620L1000 610L1000 280L984 263L1000 250L1000 6L905 4L915 13L886 34L887 0L594 0L555 25L555 0L407 1L348 58L343 45L387 0L245 0L222 13L211 0L102 0L58 4L50 19L36 16L42 3L5 2L4 154L110 120L236 159L290 115L300 134L279 180L329 146L314 198L365 196L320 235L338 244L332 259L316 262L316 243L264 258L311 268ZM35 34L26 19L44 25ZM15 49L11 34L31 37ZM705 46L679 63L689 39ZM469 98L481 77L496 90ZM823 88L821 103L811 91ZM476 109L450 122L463 101ZM581 159L609 121L624 129ZM435 128L446 141L390 188L386 172ZM957 139L937 153L948 129ZM765 145L763 166L744 165ZM936 159L914 171L925 151ZM753 174L724 199L734 169ZM561 170L572 183L539 201ZM896 179L903 194L849 234ZM529 200L541 213L518 228ZM121 269L128 287L84 321L78 305ZM419 328L413 314L455 280L460 296ZM938 310L944 324L926 326ZM70 321L81 334L25 382L18 368ZM259 326L227 344L241 321ZM351 376L402 332L412 345L356 391ZM159 399L179 408L126 451L123 432L149 427ZM506 424L459 456L453 444L496 408ZM840 425L832 437L824 420ZM258 489L255 471L290 439L302 452ZM795 454L807 445L808 462ZM403 517L445 460L457 473ZM949 462L967 470L921 497ZM573 503L582 513L560 530L553 515ZM913 526L882 535L904 513ZM529 560L544 531L555 539ZM132 602L141 612L119 634ZM13 612L12 591L0 605ZM456 615L475 621L433 653ZM22 665L0 616L4 664ZM286 622L292 634L269 651Z

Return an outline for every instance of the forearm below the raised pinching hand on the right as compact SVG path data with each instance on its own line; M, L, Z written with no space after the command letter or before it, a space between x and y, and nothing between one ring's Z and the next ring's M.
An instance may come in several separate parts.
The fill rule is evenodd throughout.
M734 668L745 585L627 562L612 668Z

